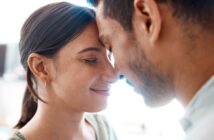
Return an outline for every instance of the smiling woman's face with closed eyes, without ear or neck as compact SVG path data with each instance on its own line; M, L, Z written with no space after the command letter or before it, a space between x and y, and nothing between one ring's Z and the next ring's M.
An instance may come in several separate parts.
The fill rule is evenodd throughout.
M97 112L106 107L116 71L109 52L98 40L98 29L90 24L51 60L51 100L75 111Z

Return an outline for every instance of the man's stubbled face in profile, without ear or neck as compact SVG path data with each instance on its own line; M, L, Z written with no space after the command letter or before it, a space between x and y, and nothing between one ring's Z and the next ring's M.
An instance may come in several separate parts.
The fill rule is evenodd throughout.
M100 39L111 48L120 72L143 95L149 106L168 103L173 98L172 79L161 72L159 64L150 56L147 40L140 40L136 31L126 31L116 20L103 16L102 2L97 7L97 24ZM143 39L143 38L142 38Z

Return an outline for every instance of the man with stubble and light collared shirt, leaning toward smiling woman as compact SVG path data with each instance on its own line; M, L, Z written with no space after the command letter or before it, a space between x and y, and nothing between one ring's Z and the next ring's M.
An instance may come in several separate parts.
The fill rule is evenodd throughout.
M177 98L188 140L213 140L214 1L88 0L100 39L149 106Z

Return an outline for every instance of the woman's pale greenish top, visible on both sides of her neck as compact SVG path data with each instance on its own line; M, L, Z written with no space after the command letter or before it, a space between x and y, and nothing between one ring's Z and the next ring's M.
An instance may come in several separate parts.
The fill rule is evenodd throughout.
M98 114L86 115L86 121L88 121L95 130L96 140L118 140L114 130L109 125L104 116ZM8 140L27 140L18 130Z

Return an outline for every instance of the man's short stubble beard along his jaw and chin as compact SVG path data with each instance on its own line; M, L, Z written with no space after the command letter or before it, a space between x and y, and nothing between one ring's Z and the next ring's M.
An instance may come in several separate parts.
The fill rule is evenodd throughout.
M170 102L174 97L172 77L164 75L147 59L144 51L133 46L129 69L137 80L131 81L136 91L143 95L145 103L150 107L158 107Z

